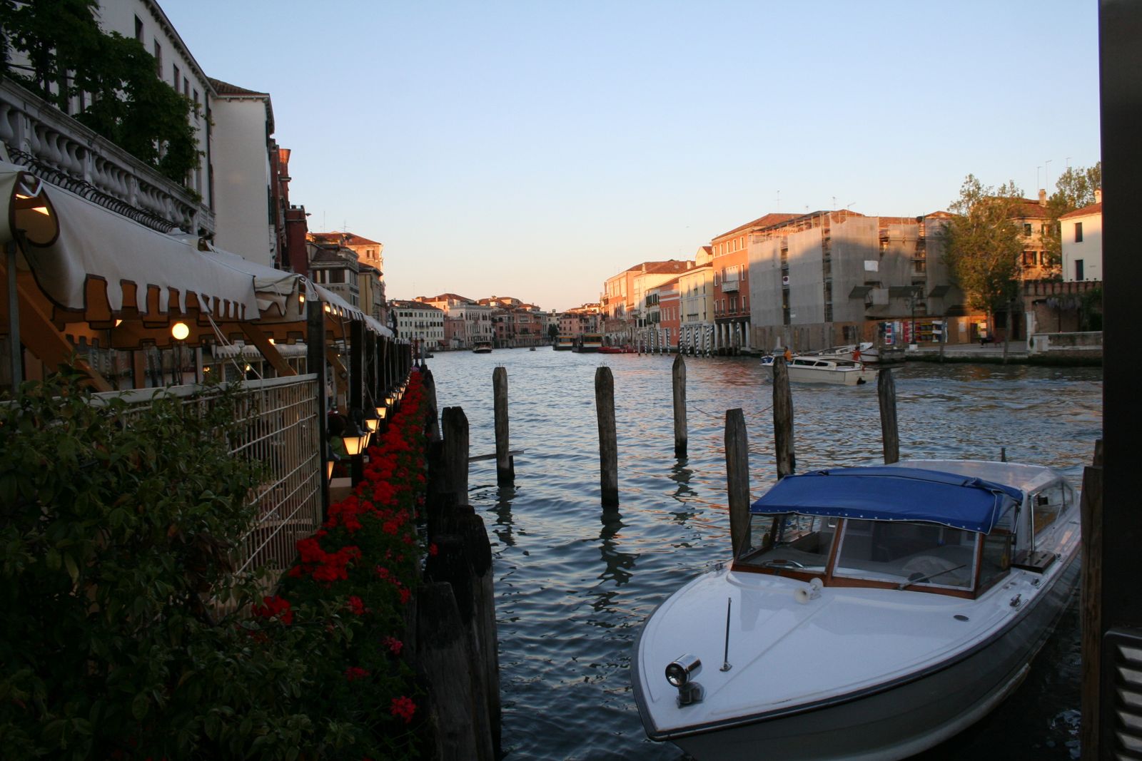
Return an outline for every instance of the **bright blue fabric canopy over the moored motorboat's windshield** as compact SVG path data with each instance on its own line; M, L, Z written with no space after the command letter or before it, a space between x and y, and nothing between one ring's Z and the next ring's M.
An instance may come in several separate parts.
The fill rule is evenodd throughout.
M1012 486L922 468L830 468L786 476L754 515L799 512L863 520L923 520L987 534L1023 501Z

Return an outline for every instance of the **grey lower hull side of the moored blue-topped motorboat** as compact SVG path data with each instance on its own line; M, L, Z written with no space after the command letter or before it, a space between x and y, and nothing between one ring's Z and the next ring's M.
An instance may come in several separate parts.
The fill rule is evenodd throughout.
M1019 686L1073 597L1076 557L1072 553L1064 570L1053 575L1051 588L991 639L924 673L721 726L656 735L648 724L648 734L673 742L698 761L757 759L759 753L801 761L891 760L919 753L979 721ZM636 679L636 696L641 691Z

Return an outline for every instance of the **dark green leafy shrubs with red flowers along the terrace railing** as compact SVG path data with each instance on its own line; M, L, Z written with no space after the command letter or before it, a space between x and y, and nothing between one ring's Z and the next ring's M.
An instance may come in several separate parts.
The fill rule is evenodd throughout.
M416 758L417 395L265 594L232 569L260 480L227 444L241 389L132 410L82 380L25 383L0 408L5 758Z

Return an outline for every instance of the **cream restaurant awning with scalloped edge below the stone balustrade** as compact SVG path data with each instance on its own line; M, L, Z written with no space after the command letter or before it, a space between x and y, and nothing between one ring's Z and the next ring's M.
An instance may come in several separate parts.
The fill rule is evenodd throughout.
M257 324L278 340L304 340L307 301L328 305L327 323L360 321L393 337L303 275L249 261L196 235L159 233L0 161L0 245L13 240L19 243L18 267L34 277L57 329L85 322L114 327L115 348L169 343L162 333L175 319L198 323L191 345L209 337L225 341L242 333L240 324Z

